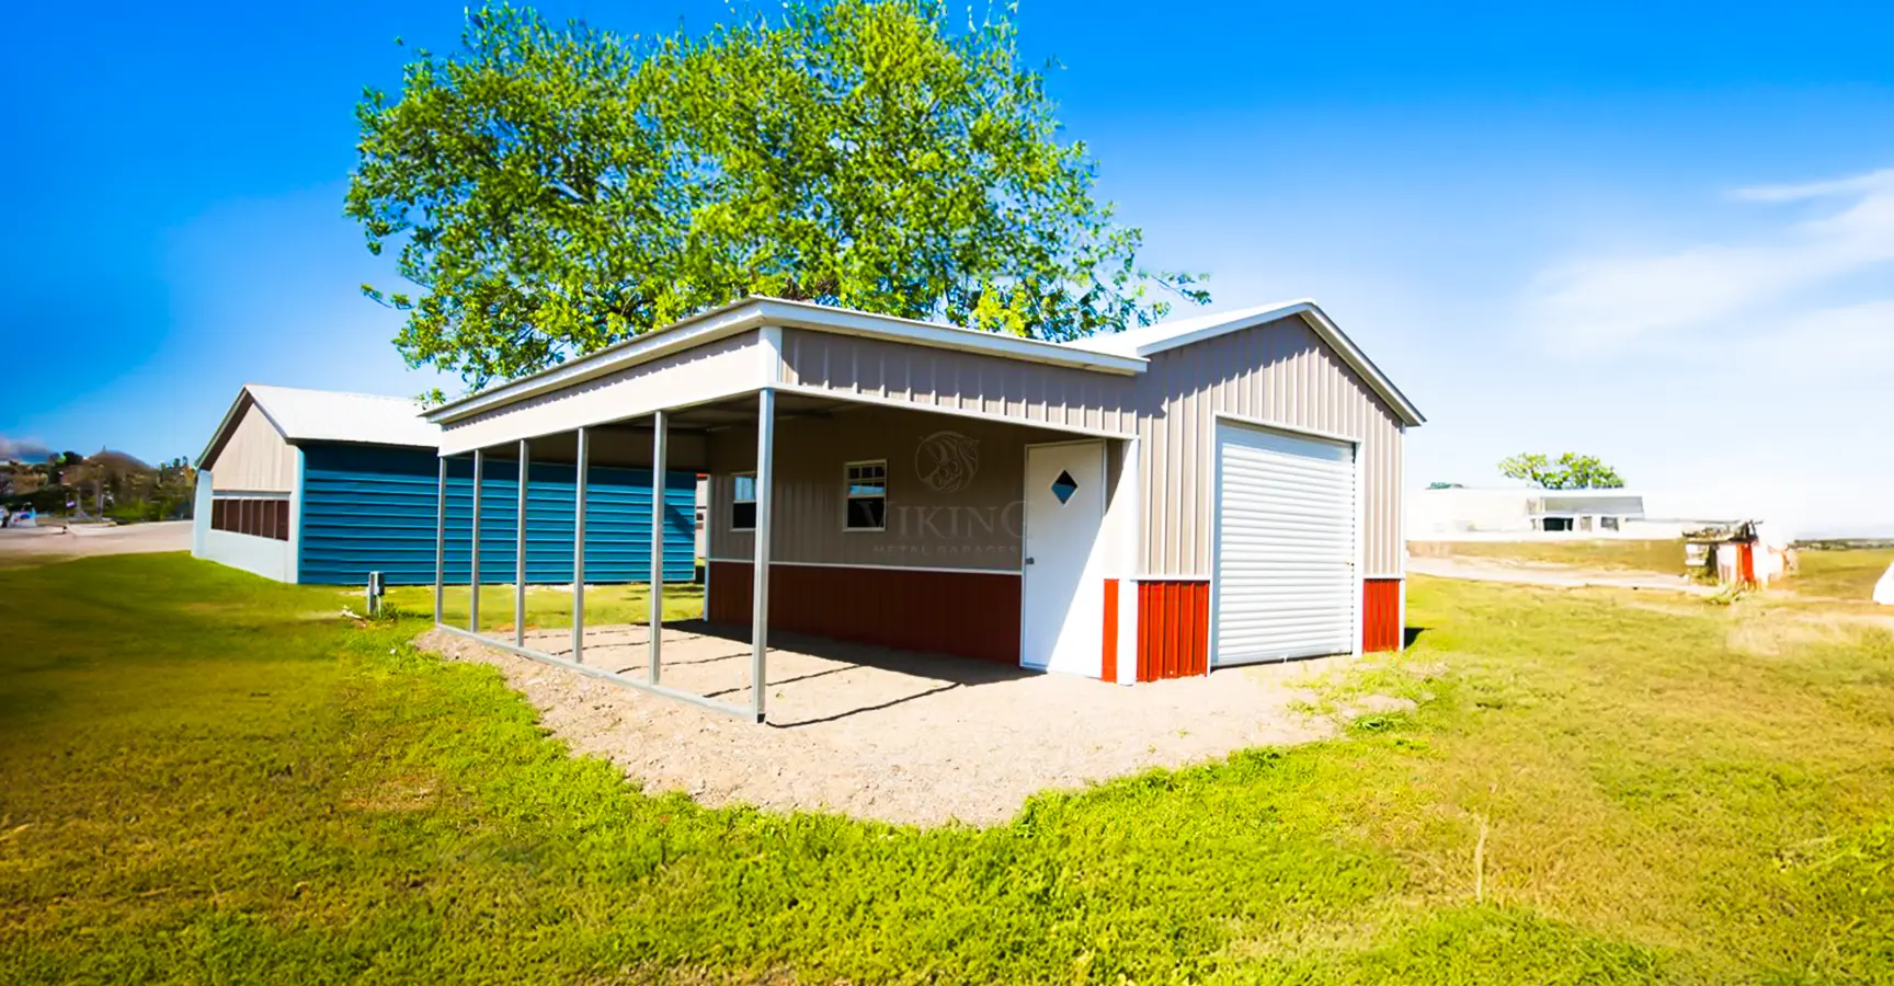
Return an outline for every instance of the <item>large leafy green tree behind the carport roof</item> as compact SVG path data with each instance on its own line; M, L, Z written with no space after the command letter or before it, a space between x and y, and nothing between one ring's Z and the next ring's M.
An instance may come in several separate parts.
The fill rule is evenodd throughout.
M964 11L962 11L964 17ZM839 0L703 36L468 15L369 89L347 212L413 290L413 365L472 384L742 295L1042 339L1208 301L1093 195L1008 11Z

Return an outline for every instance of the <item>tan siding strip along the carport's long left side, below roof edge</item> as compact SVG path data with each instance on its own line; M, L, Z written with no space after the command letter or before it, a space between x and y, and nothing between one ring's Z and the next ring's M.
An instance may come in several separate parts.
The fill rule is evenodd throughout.
M761 388L775 369L758 333L748 331L648 363L527 397L441 426L441 452L509 445L659 409L674 409Z

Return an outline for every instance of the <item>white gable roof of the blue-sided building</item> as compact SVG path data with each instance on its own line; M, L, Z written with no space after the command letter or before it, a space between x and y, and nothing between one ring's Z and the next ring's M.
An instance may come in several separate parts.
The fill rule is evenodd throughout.
M409 397L303 390L295 386L244 384L231 401L199 464L229 437L242 411L256 405L288 443L339 441L350 445L394 445L402 449L439 449L441 430L422 420L426 411Z

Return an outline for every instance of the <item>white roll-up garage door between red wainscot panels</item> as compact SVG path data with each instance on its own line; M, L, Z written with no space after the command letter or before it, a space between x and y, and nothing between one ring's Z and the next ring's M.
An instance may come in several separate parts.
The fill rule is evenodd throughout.
M1216 426L1214 664L1354 651L1354 447Z

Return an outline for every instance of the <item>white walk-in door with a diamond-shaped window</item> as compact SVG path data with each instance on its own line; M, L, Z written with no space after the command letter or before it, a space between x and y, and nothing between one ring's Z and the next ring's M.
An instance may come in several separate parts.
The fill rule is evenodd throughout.
M1027 447L1019 662L1097 678L1102 660L1104 443Z

